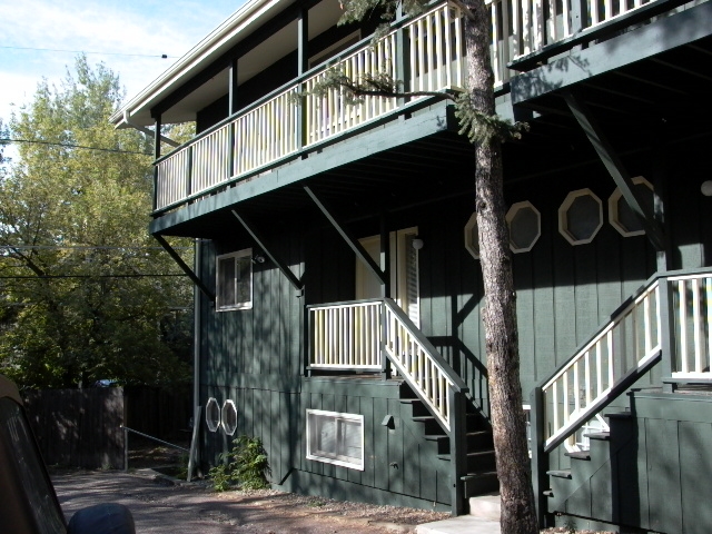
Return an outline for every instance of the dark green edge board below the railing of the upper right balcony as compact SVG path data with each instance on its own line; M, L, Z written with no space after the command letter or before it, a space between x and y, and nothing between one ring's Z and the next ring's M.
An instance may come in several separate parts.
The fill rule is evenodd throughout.
M511 80L514 105L557 91L566 86L611 72L712 34L712 3L695 6L673 17L629 31L591 48L573 51Z

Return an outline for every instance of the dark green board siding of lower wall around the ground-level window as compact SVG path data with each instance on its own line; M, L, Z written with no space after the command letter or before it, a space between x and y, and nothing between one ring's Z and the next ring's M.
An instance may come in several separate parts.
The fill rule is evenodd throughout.
M382 504L446 510L449 504L448 462L437 458L434 442L413 422L395 382L304 379L301 394L259 388L204 386L220 404L233 399L238 426L233 437L222 429L204 432L204 462L217 462L230 442L246 434L261 438L271 468L270 481L286 490ZM364 416L364 471L306 458L306 409ZM383 426L393 415L394 428ZM301 487L300 481L312 481Z

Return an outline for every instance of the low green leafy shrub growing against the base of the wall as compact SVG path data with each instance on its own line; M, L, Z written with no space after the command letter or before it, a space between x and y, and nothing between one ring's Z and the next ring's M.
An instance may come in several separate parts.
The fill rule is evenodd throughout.
M225 492L236 484L243 490L269 487L267 475L271 469L259 437L239 436L233 442L233 449L221 453L219 458L221 464L209 472L216 492Z

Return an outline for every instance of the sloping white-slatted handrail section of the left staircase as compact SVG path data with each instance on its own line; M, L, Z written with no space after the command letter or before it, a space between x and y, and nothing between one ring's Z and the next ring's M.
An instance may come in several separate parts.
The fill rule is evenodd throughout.
M383 301L386 357L444 429L451 433L452 393L468 392L465 382L395 300L384 298Z

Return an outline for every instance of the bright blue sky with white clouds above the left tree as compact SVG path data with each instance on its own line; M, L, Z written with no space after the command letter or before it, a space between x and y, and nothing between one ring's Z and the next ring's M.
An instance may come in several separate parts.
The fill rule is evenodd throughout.
M59 85L81 51L118 73L129 99L243 2L0 0L0 118L31 101L42 78Z

